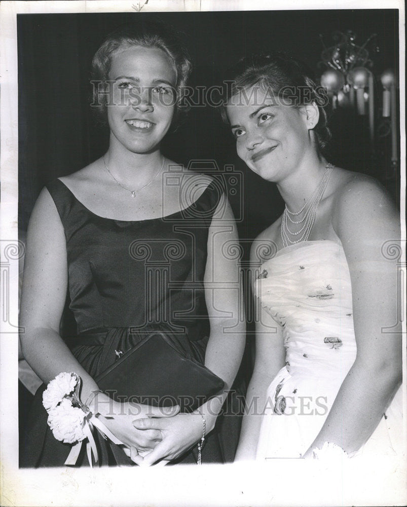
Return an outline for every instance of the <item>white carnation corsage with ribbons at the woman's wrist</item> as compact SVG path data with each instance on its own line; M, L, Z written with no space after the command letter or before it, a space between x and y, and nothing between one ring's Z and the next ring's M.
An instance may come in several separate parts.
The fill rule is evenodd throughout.
M93 438L93 426L115 444L122 444L114 434L98 419L99 413L93 414L87 405L81 402L79 392L81 378L76 373L60 373L48 384L43 392L43 405L48 412L48 425L54 437L65 444L75 444L65 465L75 465L87 439L86 452L90 466L97 463L98 455Z

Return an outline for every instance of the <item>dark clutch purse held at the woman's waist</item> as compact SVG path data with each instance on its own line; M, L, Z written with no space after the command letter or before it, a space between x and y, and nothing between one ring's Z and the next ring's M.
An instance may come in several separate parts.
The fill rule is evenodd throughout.
M152 333L95 377L115 400L192 412L224 388L205 366L180 352L165 333Z

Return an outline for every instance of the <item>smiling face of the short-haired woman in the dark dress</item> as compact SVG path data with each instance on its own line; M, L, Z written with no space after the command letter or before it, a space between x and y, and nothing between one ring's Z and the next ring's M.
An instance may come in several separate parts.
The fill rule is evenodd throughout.
M155 151L174 114L172 61L161 49L131 46L113 57L109 80L110 142L133 153Z

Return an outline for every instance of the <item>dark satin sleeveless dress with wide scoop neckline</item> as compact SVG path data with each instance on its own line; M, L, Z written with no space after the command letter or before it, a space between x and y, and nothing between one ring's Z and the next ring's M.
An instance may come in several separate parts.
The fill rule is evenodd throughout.
M167 332L187 356L203 364L209 338L203 278L218 186L212 182L187 209L142 221L92 213L59 179L47 189L65 231L69 308L77 325L77 334L66 342L89 374L103 372L118 352L126 352L154 330ZM23 467L63 466L70 451L47 425L44 389L43 385L36 392L27 421L20 449ZM239 425L239 417L218 417L205 440L203 462L233 460ZM133 464L118 446L94 433L99 464ZM78 466L88 465L84 448ZM196 463L196 450L177 462Z

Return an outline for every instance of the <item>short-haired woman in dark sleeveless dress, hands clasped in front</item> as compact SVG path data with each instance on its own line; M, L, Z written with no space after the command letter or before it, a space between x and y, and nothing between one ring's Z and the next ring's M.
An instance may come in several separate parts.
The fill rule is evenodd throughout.
M98 391L94 378L155 330L225 382L225 391L201 405L200 413L176 415L107 403L105 393L93 392L90 409L97 407L123 443L112 445L112 454L98 438L101 464L196 462L190 450L202 437L203 419L209 433L203 461L222 462L227 451L215 422L244 347L238 269L222 250L237 242L233 213L215 180L174 169L160 150L190 67L177 36L161 23L141 22L110 34L93 59L100 81L94 103L108 121L109 148L47 185L29 223L21 344L45 385L60 372L75 372L85 402ZM78 333L64 341L59 330L67 288ZM234 324L236 333L224 332ZM69 453L47 426L45 385L35 396L22 466L63 465ZM104 418L104 410L113 417ZM236 425L236 444L237 430ZM82 458L78 465L87 465Z

